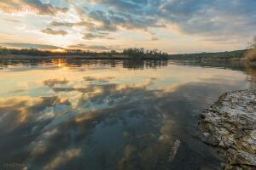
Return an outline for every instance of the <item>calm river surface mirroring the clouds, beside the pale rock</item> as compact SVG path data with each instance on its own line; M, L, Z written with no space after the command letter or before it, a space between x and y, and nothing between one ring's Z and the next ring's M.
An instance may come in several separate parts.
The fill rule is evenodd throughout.
M0 166L218 169L197 122L249 80L230 63L2 60Z

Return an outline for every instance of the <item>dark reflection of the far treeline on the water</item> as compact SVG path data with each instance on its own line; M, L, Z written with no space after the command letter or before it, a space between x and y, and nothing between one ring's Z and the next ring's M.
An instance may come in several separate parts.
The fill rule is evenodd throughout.
M132 70L157 69L168 65L168 59L23 59L23 60L0 60L0 68L8 65L17 66L66 66L69 68L83 67L123 67ZM246 65L238 61L229 60L175 60L178 65L195 65L202 67L224 68L234 71L246 71ZM32 69L32 68L29 68Z

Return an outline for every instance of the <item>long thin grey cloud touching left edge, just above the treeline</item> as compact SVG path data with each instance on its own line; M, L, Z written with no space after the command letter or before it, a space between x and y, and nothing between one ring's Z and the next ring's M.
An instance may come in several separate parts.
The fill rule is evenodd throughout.
M34 44L34 43L16 43L16 42L8 42L1 43L3 46L7 46L10 48L40 48L40 49L57 49L60 47L54 45L45 45L45 44Z

